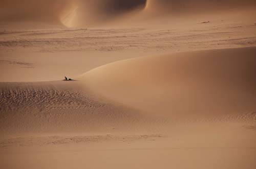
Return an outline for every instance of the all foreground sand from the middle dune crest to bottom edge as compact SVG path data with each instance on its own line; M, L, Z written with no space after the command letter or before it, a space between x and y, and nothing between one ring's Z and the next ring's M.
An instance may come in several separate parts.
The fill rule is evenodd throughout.
M79 81L2 82L0 166L254 168L255 53L142 57Z

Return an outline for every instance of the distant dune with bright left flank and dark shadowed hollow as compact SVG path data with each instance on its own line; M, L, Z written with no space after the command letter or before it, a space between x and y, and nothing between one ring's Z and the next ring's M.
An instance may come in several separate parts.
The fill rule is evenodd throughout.
M75 22L74 25L91 26L104 25L104 23L133 10L143 10L146 0L79 0L77 4L75 17L72 18Z

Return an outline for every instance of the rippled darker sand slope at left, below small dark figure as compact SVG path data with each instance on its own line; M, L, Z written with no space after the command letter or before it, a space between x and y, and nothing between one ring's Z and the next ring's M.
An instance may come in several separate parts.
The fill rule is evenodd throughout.
M0 133L102 132L142 120L135 109L90 93L78 81L0 83Z

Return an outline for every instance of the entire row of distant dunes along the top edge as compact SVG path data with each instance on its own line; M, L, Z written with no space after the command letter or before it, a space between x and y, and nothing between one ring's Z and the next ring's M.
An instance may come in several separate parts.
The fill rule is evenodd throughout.
M53 0L53 1L17 1L4 0L0 2L0 21L37 21L65 26L102 25L116 16L139 9L145 11L143 16L152 13L179 14L186 12L216 12L220 10L238 10L253 8L253 0L133 0L133 1L88 1L88 0ZM137 18L141 15L133 16Z

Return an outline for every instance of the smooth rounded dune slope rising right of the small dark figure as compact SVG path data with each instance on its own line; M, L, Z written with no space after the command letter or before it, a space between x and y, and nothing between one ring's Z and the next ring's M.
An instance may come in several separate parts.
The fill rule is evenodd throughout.
M168 119L255 120L256 47L136 58L82 75L94 92Z

